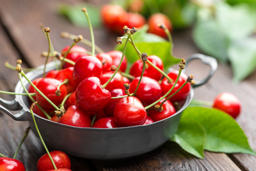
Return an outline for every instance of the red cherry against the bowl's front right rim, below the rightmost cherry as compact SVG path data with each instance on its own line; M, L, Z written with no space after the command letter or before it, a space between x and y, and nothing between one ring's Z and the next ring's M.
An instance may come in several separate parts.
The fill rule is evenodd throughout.
M165 99L161 100L157 105L160 105ZM156 110L148 110L148 115L153 119L154 122L161 121L171 115L175 114L175 108L173 107L172 103L167 100L163 104L163 110L158 112Z

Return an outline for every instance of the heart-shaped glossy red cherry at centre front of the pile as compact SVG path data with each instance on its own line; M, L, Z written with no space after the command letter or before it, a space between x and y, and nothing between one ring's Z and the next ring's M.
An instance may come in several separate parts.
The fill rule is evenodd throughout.
M106 107L111 100L108 90L102 89L97 77L85 78L76 89L78 105L88 112L97 112Z

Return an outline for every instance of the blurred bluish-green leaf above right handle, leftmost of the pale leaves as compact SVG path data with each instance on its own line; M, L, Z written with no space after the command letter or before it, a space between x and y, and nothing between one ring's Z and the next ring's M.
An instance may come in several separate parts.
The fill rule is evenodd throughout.
M198 48L205 54L227 63L228 57L224 35L214 19L209 17L208 19L198 20L193 30L193 37Z

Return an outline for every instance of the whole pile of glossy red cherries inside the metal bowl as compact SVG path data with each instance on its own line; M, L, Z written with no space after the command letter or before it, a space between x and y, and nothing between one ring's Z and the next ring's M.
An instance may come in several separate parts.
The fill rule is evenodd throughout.
M62 51L65 52L68 48L65 47ZM125 83L130 85L129 94L134 93L143 70L143 62L138 59L136 63L132 64L130 70L130 77L134 77L134 79L131 80L131 78L122 76L127 68L127 59L124 57L120 71L116 73L104 89L102 88L115 72L121 57L122 52L120 51L89 56L86 54L86 49L74 46L66 57L66 59L76 62L74 66L64 63L62 70L49 71L45 78L33 80L33 84L56 106L61 104L67 94L71 94L64 105L65 110L67 110L65 114L58 115L60 119L53 115L51 120L70 126L91 127L93 117L95 117L93 128L120 128L154 123L175 114L173 103L186 100L190 90L189 83L170 100L166 101L161 110L154 110L154 107L151 107L146 111L144 107L159 100L171 89L179 71L168 73L168 76L173 80L173 82L168 82L166 78L163 78L162 73L146 64L136 94L125 98L114 98L127 95L125 94ZM163 62L159 57L148 56L147 60L163 70ZM61 93L60 96L57 96L58 85L64 80L68 80L68 83L60 86ZM170 94L177 91L186 80L187 76L181 73ZM161 81L161 84L159 84L159 81ZM34 98L40 107L44 108L48 114L54 114L54 107L31 85L29 85L28 91L29 93L36 93ZM33 112L46 118L37 106L35 106Z

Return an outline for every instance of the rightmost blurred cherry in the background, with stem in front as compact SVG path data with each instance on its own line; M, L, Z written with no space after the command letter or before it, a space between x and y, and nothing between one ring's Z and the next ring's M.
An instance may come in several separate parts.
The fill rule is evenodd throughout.
M170 19L164 15L163 13L154 13L151 15L148 19L148 33L156 34L158 36L161 36L162 38L167 38L166 33L163 31L163 29L160 29L157 24L163 23L168 28L170 33L172 33L172 22Z

